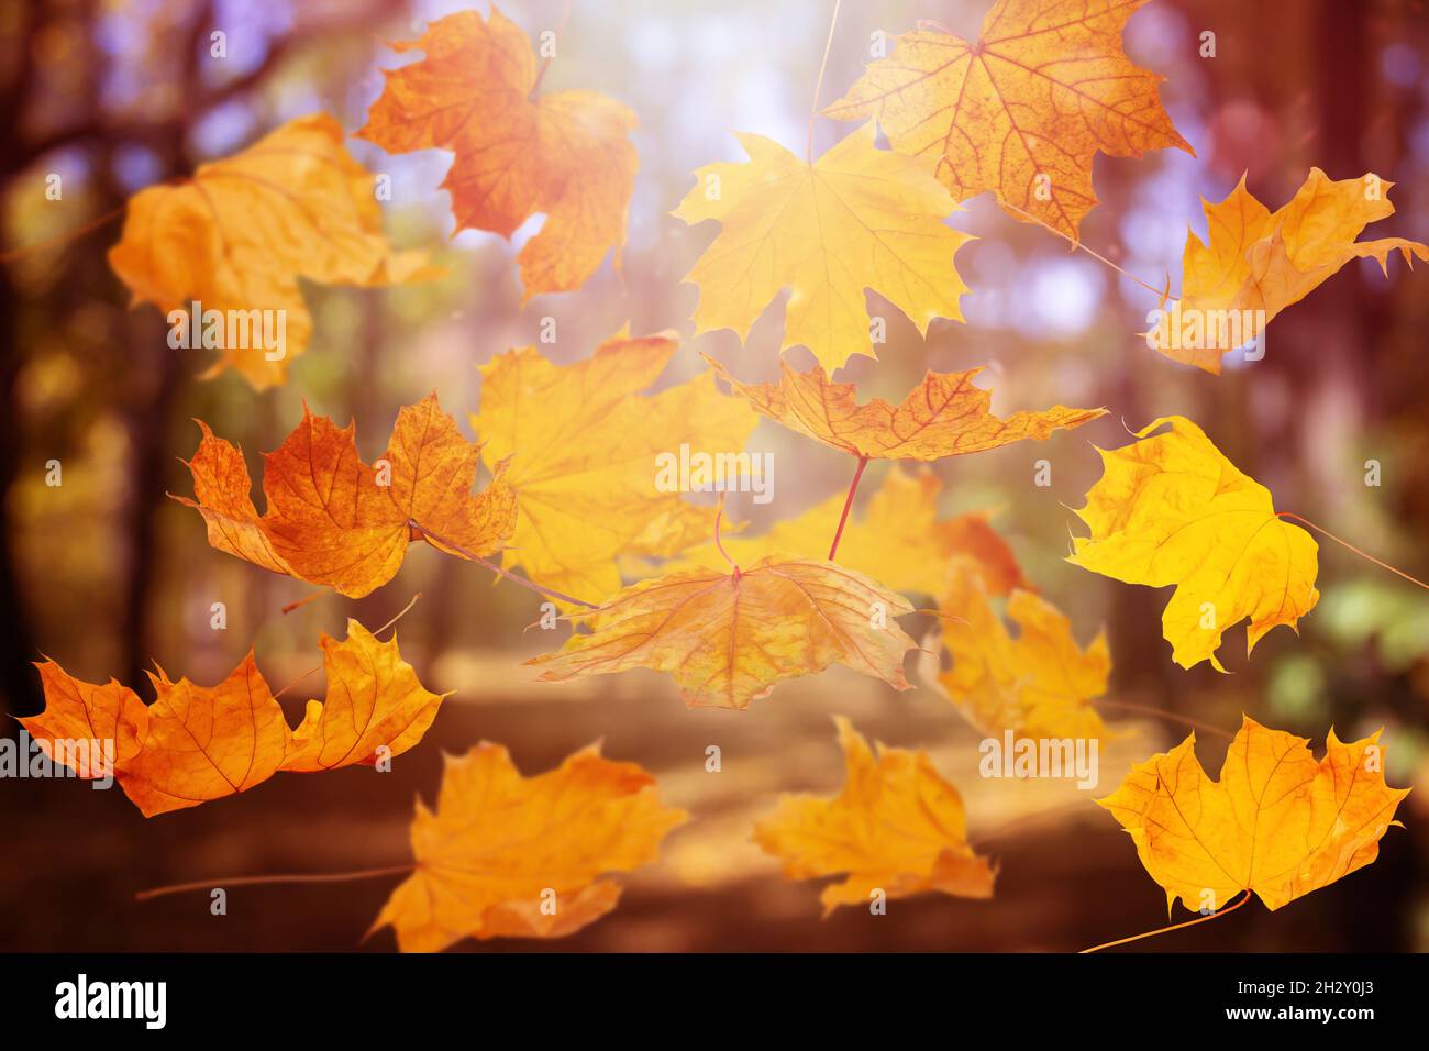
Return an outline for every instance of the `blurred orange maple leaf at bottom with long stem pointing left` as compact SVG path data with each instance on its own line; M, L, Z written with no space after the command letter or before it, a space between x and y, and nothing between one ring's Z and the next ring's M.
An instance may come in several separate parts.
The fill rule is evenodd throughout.
M446 756L436 811L417 801L416 872L383 907L403 952L440 952L463 938L559 938L610 912L620 887L603 872L654 861L684 811L599 745L523 778L500 745Z

